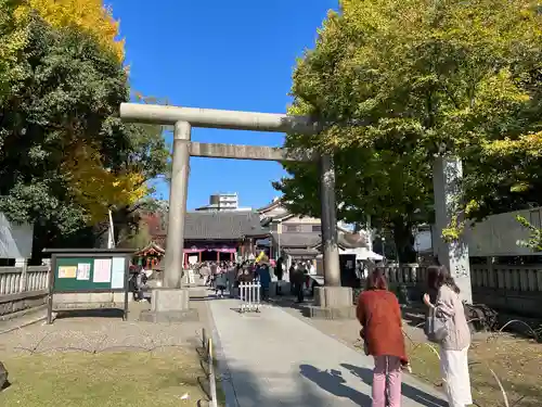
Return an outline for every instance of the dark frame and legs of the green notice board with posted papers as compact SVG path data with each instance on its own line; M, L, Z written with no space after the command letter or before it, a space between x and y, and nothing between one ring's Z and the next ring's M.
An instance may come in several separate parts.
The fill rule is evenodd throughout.
M51 272L49 274L49 298L47 307L47 323L53 323L54 311L54 294L88 294L88 293L118 293L122 292L124 309L122 320L128 319L128 298L129 298L129 279L130 279L130 260L134 253L131 249L43 249L44 254L51 255ZM125 258L125 272L124 272L124 287L121 289L113 289L111 287L93 288L93 289L56 289L55 282L57 281L56 275L59 272L59 259L63 258L79 258L92 259L91 269L93 270L93 260L100 258L124 257ZM113 278L113 275L111 276ZM96 284L96 283L94 283ZM101 283L104 284L104 283ZM111 285L111 281L109 281Z

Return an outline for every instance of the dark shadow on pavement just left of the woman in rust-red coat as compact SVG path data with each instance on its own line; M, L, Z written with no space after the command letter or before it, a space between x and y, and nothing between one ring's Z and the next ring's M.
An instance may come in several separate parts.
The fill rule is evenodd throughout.
M349 398L359 406L371 406L371 397L345 385L346 380L338 370L320 370L311 365L300 365L299 371L301 376L318 384L327 393L337 397Z

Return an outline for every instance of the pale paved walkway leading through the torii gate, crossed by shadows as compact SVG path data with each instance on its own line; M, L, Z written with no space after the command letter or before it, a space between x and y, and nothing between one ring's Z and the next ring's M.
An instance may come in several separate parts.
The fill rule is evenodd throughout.
M227 407L371 406L372 358L268 306L241 315L238 301L210 301ZM447 406L403 377L402 407Z

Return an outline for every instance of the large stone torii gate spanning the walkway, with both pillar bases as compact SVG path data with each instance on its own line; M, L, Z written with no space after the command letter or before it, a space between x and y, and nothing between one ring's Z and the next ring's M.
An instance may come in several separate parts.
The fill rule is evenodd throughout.
M182 289L181 283L190 156L318 163L321 174L324 287L315 290L313 314L328 317L353 315L352 291L340 287L333 157L281 148L191 141L192 127L314 135L322 130L321 124L308 117L285 114L136 103L121 103L120 117L129 123L173 126L175 129L164 288L153 291L152 310L143 316L145 319L156 321L190 318L189 293Z

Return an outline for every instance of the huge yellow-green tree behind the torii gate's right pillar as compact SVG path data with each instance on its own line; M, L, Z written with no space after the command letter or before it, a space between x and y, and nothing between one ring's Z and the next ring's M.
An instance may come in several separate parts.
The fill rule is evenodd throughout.
M534 178L496 165L513 149L494 151L539 126L541 23L530 0L344 0L293 77L291 111L327 127L286 145L334 152L339 217L373 215L408 259L406 231L430 219L435 154L463 158L473 218L502 207L496 191L520 203L518 176ZM301 213L317 208L314 169L286 169L276 187Z

